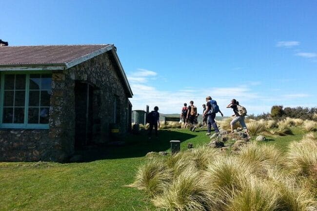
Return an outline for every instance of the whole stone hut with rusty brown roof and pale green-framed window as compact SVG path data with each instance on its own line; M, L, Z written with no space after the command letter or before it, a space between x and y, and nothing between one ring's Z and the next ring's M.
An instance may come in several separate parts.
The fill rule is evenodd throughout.
M131 129L112 44L0 47L0 161L63 161Z

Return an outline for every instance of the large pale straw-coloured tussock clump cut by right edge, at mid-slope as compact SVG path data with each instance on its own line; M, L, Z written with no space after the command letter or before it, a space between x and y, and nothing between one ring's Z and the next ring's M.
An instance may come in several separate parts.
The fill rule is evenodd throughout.
M293 173L302 176L315 174L317 142L311 139L293 142L289 146L286 157L287 165Z

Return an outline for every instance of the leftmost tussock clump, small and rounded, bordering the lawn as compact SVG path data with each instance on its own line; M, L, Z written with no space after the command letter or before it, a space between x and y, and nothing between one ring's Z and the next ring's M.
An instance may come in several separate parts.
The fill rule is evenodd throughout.
M166 189L172 177L168 166L158 158L153 158L139 167L135 182L129 187L144 190L150 197L153 197Z

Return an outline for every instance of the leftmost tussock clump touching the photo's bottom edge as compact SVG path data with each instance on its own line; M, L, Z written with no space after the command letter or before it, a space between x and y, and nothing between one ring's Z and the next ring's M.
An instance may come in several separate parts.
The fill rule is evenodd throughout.
M169 211L208 211L214 200L205 187L195 168L188 168L153 202Z

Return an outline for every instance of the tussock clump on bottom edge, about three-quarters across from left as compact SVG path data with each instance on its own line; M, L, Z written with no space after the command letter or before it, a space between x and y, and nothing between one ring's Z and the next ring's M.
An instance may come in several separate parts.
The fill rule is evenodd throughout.
M262 180L251 177L226 203L225 211L277 211L277 192Z

